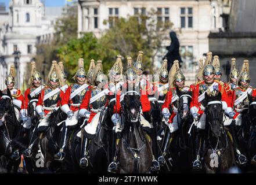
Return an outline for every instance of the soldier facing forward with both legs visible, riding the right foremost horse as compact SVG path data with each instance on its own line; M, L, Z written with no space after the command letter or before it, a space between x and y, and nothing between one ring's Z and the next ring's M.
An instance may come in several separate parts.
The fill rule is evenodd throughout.
M205 108L207 108L206 103L204 102L204 94L206 91L219 91L222 94L222 109L225 110L225 113L228 114L228 117L230 119L233 118L234 112L231 108L230 101L228 94L226 92L226 89L224 87L223 82L219 80L214 80L215 77L215 69L214 66L211 65L211 58L207 58L204 64L204 71L203 71L204 81L201 81L196 84L193 90L192 95L192 102L190 105L190 112L192 113L192 116L194 120L197 122L197 131L196 131L196 153L197 157L196 160L193 162L193 170L200 170L201 169L201 161L200 161L200 154L202 150L202 143L203 143L203 137L204 137L204 129L205 129L205 120L206 120L206 114L205 114ZM236 137L236 134L234 132L234 127L232 124L232 120L229 121L228 124L230 134L232 135L232 138ZM234 139L235 140L235 139ZM236 143L233 143L235 145L235 149L237 152L237 161L240 161L240 164L244 164L246 162L245 156L240 154L239 150L237 149Z

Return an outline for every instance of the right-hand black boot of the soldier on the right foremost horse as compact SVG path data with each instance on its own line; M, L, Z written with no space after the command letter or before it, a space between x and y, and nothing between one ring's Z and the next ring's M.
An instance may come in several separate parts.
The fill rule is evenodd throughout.
M229 131L230 134L232 135L233 139L233 147L235 151L235 157L236 157L236 162L240 165L246 164L248 162L246 156L240 153L238 149L238 139L237 139L237 132L236 132L236 124L235 121L232 121L232 123L229 125Z

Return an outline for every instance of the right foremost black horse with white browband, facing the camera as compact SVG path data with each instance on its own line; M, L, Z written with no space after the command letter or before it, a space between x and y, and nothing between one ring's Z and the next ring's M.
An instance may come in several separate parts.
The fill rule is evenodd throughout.
M235 164L230 133L223 124L221 93L208 95L205 121L204 166L207 173L222 173Z

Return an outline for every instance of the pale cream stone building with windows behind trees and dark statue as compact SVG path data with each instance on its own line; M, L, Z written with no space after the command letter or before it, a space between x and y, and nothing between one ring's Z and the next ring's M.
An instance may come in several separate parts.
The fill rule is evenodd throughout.
M229 0L79 0L78 1L78 37L84 32L93 32L100 37L114 21L103 24L115 17L146 14L151 9L157 11L157 21L171 21L173 30L178 34L183 70L193 72L194 63L209 50L210 31L225 29L225 10L230 7ZM223 12L224 11L224 12ZM181 32L180 32L181 31ZM168 33L167 33L168 34ZM163 49L158 53L154 64L161 62L167 53L166 46L171 40L163 40ZM193 76L193 75L192 75Z

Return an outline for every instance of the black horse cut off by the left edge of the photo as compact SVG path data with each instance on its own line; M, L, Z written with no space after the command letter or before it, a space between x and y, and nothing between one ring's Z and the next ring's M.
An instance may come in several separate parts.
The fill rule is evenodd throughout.
M14 151L12 139L19 133L19 121L16 118L12 95L7 90L7 94L0 91L0 172L17 172L20 164L19 160L10 160L10 155Z

